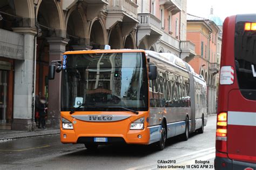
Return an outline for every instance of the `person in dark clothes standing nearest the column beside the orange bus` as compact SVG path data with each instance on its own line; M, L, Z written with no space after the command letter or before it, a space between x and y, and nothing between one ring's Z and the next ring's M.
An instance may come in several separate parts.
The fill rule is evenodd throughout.
M41 97L37 106L37 110L39 112L39 124L38 128L45 128L45 117L46 117L46 98Z

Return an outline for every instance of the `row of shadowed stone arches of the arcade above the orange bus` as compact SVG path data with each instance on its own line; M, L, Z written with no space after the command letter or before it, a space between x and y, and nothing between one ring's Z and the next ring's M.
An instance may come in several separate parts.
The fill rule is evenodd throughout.
M115 48L136 46L134 33L123 35L122 26L119 30L106 30L106 13L96 12L98 15L92 16L90 11L93 12L85 2L75 3L68 10L63 10L62 3L56 0L1 0L0 28L12 31L12 28L21 26L37 27L40 30L39 39L63 37L70 39L70 44L87 44L93 48L102 48L108 43Z

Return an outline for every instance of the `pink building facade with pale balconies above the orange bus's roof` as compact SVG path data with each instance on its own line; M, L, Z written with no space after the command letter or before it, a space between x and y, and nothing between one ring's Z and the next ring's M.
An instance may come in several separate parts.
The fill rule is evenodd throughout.
M186 0L138 1L138 47L191 60L195 46L186 40Z

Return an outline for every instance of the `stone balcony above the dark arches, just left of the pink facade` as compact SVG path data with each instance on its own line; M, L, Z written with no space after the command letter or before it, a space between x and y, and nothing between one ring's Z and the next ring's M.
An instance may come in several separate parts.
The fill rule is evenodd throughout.
M117 22L123 22L124 26L134 28L139 23L138 5L131 0L108 0L106 28L111 29ZM130 30L130 29L129 29Z

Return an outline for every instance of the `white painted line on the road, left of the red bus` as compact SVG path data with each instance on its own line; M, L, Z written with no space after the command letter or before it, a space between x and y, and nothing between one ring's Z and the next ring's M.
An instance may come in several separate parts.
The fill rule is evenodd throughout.
M205 152L205 153L203 153ZM178 160L180 158L184 158L184 157L187 157L187 156L190 156L190 155L193 155L192 158L194 157L200 157L201 155L205 155L205 154L210 154L212 152L215 152L215 147L210 147L210 148L206 148L206 149L201 149L200 151L195 151L195 152L191 152L191 153L188 153L188 154L184 154L184 155L179 155L178 157L171 157L171 158L168 158L168 159L163 159L163 160ZM200 153L203 153L203 154L200 154ZM194 155L194 154L197 154L197 155ZM189 158L191 159L191 157ZM187 159L181 159L179 161L185 161ZM149 169L149 167L151 166L157 166L158 163L157 163L157 160L156 160L156 163L153 163L153 164L146 164L146 165L142 165L142 166L137 166L137 167L132 167L132 168L129 168L127 170L134 170L134 169ZM146 168L148 167L148 168Z

